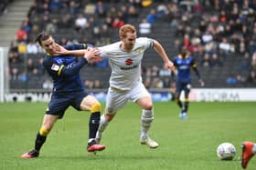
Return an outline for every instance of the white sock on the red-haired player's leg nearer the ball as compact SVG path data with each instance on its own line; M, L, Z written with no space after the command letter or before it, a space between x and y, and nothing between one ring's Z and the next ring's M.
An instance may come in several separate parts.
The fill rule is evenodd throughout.
M154 111L152 110L143 110L141 117L141 136L146 136L151 123L154 120Z

